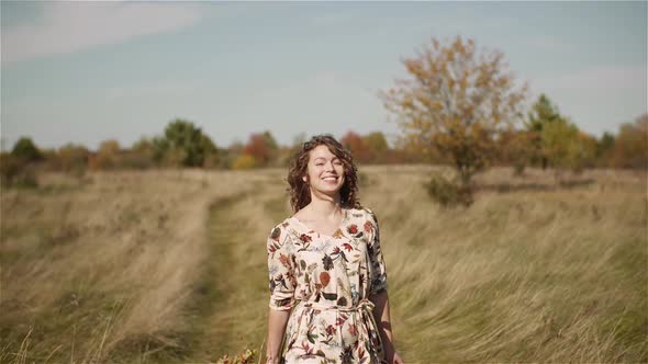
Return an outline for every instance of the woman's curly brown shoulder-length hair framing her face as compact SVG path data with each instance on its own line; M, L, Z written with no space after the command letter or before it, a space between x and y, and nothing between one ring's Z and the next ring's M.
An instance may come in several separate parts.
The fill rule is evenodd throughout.
M315 135L311 140L304 143L294 153L288 171L287 190L290 193L290 205L293 212L299 212L311 203L311 191L309 184L302 180L306 174L310 151L315 147L325 145L328 150L342 161L344 166L344 184L339 190L340 205L347 208L361 208L358 198L358 169L354 164L354 158L339 141L329 134Z

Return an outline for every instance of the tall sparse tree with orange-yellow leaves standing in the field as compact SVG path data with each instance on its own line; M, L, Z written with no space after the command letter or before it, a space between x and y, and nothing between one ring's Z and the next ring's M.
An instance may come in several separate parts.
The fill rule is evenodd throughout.
M496 156L496 136L522 116L526 84L515 87L502 53L478 56L461 36L444 45L433 37L402 62L411 78L381 92L384 106L405 135L448 157L470 191L471 178Z

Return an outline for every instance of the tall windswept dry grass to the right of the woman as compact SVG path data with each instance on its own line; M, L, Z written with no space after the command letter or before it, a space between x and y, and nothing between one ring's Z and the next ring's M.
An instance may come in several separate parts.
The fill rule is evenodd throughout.
M648 361L645 173L495 169L479 183L515 192L454 211L418 203L423 168L370 175L410 362Z

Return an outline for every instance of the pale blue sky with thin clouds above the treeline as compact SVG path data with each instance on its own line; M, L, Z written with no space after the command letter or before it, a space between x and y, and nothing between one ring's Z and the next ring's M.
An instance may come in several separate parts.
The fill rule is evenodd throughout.
M1 2L1 138L124 147L181 117L219 147L382 130L431 36L504 53L585 132L647 112L648 2Z

